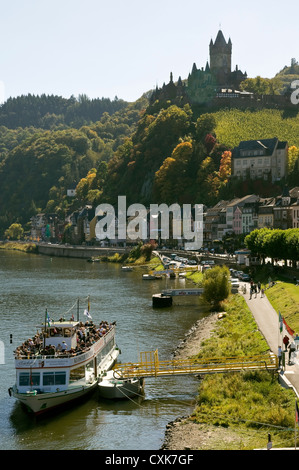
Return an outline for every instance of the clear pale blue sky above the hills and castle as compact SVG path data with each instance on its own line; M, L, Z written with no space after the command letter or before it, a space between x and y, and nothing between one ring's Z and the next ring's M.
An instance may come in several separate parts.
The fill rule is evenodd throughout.
M0 101L54 94L135 101L204 67L219 29L232 68L272 78L299 61L299 2L0 0ZM2 99L1 99L2 98Z

